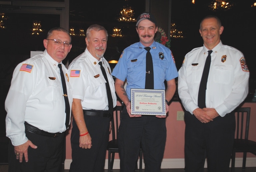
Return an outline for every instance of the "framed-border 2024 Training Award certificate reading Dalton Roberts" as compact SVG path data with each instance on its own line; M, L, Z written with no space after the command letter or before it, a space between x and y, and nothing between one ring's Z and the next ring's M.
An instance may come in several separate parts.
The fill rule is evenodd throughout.
M131 89L132 115L166 115L165 90Z

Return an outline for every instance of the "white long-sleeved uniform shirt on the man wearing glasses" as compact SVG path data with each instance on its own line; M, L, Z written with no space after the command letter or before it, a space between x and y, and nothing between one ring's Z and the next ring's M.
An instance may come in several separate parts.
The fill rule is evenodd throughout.
M64 75L68 76L63 64L62 69ZM65 80L71 109L73 100L71 85L67 77ZM23 61L15 68L5 109L6 135L14 146L28 140L24 121L50 133L66 130L60 69L58 62L53 60L46 50L43 54Z

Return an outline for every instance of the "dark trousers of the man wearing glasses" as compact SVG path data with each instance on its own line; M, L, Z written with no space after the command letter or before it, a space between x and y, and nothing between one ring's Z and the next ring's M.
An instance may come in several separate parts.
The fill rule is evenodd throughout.
M20 163L14 154L14 146L9 143L9 172L61 172L65 132L57 137L41 136L26 131L26 137L37 146L28 148L28 162Z

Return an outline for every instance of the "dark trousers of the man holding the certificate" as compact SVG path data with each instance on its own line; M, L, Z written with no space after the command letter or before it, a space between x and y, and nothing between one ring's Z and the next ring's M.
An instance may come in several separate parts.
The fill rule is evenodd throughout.
M165 118L154 115L130 118L124 106L118 129L120 172L134 172L140 145L145 172L159 172L166 142Z

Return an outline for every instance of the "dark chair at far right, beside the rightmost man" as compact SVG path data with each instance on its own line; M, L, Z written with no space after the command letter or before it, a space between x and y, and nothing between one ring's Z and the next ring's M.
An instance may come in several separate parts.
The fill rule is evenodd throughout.
M243 170L245 170L247 152L256 155L256 142L248 140L250 108L237 108L233 113L236 116L236 135L231 156L231 172L235 171L236 152L243 152Z

